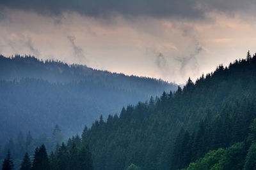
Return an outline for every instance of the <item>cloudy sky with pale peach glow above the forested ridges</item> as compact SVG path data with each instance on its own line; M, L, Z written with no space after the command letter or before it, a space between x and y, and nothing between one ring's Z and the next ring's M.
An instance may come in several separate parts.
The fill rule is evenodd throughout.
M256 52L255 0L0 0L0 53L186 83Z

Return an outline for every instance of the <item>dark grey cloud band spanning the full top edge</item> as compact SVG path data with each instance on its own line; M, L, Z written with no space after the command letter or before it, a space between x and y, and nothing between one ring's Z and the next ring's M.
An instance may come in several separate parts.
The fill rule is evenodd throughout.
M1 0L3 8L36 11L42 15L61 15L63 12L76 12L89 17L156 17L202 19L205 13L221 11L248 11L255 9L253 0ZM254 10L252 10L254 11Z

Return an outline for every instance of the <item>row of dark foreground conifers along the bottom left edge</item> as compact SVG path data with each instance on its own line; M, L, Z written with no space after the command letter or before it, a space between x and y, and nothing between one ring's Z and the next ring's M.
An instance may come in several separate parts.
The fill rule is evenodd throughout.
M80 138L79 138L80 139ZM14 169L13 160L8 151L6 158L3 160L3 170ZM65 145L57 145L55 152L47 154L45 145L35 148L32 159L28 152L25 153L24 158L20 164L20 170L93 170L92 153L87 145L82 145L80 139L70 139Z

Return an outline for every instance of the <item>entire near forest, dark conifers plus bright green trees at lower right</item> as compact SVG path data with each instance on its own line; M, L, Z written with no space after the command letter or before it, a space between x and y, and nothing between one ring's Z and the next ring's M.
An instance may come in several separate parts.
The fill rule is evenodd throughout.
M255 87L256 54L248 52L246 59L220 64L195 82L189 78L175 92L165 90L120 114L100 116L65 143L56 125L51 151L41 143L30 157L24 150L20 165L72 169L77 161L77 169L255 169ZM13 165L12 152L2 149L3 167Z

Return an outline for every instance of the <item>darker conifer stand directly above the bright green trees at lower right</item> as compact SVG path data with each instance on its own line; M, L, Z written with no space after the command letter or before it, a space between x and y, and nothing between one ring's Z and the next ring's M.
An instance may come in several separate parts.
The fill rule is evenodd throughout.
M251 122L256 117L254 101L252 98L244 98L231 105L225 104L219 115L212 118L210 114L205 117L191 134L187 132L185 135L184 131L180 131L173 145L172 169L186 167L189 162L203 157L210 150L246 141L249 133L252 139L253 131L250 132L248 127L252 129L254 123ZM225 169L232 169L230 166L241 169L244 160L240 158L244 158L245 151L244 144L232 146L228 152L230 156L225 160ZM234 164L237 164L237 167Z

